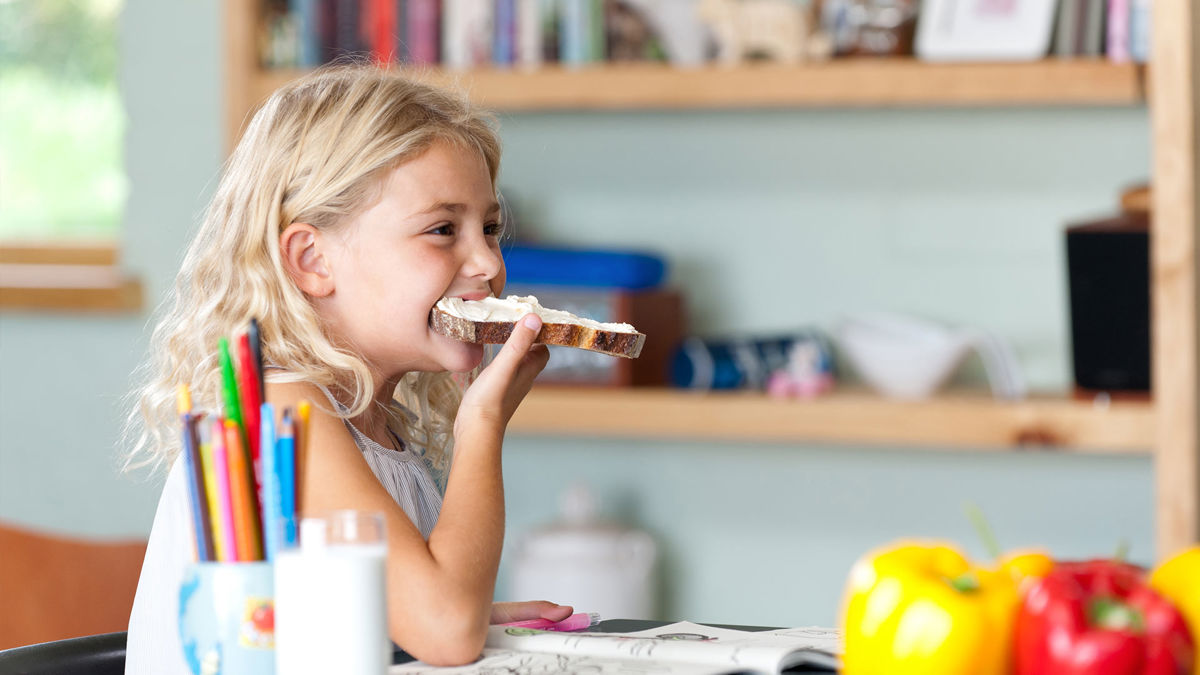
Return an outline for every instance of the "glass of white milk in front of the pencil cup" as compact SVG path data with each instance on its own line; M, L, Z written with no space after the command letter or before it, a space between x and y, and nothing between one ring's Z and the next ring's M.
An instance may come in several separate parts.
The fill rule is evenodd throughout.
M366 516L366 525L346 519ZM275 558L275 662L280 675L383 675L391 664L383 518L306 518L300 546ZM331 524L328 519L342 519Z

